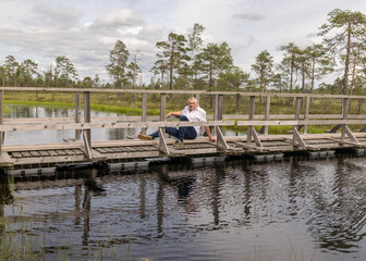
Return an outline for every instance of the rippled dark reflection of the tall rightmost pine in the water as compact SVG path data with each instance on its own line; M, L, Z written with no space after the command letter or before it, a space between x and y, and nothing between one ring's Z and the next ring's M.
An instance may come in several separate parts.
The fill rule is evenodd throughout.
M366 236L361 233L366 225L364 172L364 169L345 164L344 157L340 156L331 173L329 191L320 190L315 195L314 213L307 224L322 248L353 251L355 243ZM330 198L324 196L326 192Z

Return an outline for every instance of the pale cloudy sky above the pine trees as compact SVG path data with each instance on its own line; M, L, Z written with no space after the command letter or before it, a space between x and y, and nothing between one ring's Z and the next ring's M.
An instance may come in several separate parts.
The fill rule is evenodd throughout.
M318 28L333 9L366 13L365 0L0 0L0 64L14 55L32 59L39 71L68 57L80 78L106 82L109 51L122 40L136 55L149 83L157 41L169 33L187 36L195 23L205 27L204 45L227 41L234 64L251 72L255 57L269 51L274 62L281 46L320 42ZM252 73L253 75L253 73Z

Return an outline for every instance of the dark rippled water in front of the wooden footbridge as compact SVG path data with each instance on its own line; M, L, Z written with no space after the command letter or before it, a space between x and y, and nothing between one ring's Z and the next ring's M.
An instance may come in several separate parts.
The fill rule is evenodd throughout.
M45 260L365 260L365 160L9 176L0 245Z

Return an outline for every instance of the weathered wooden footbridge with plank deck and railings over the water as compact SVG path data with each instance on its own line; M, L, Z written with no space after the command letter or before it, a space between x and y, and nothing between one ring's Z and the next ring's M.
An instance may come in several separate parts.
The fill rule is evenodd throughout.
M32 117L4 119L2 102L4 91L32 92L73 92L75 94L75 117ZM82 119L82 94L84 96L84 117ZM135 94L142 96L141 116L90 117L90 94ZM160 116L147 116L148 95L160 96ZM193 95L198 101L203 96L215 97L215 113L207 122L178 122L166 120L167 95ZM225 96L234 96L237 100L247 97L248 111L240 114L223 114ZM265 98L265 113L255 115L255 101ZM293 114L270 114L271 99L282 98L294 101ZM310 114L312 100L332 99L341 103L339 114ZM366 125L365 114L349 114L351 99L364 100L363 96L301 95L301 94L263 94L263 92L208 92L169 91L169 90L126 90L126 89L69 89L69 88L0 88L0 166L45 166L75 162L115 162L134 161L149 158L202 157L202 156L247 156L292 153L298 151L324 151L339 149L366 148L366 128L353 133L349 125ZM186 100L181 101L182 108ZM304 113L301 113L304 107ZM223 126L247 126L247 133L241 136L224 136ZM329 133L307 134L309 125L331 125ZM164 127L211 126L217 142L207 137L184 140L184 146L173 147L174 139L163 135ZM254 126L263 126L256 132ZM292 132L284 135L268 135L269 126L292 126ZM160 138L156 140L93 141L90 133L96 128L137 128L146 133L146 128L156 127ZM75 137L69 142L37 145L4 145L8 132L75 129Z

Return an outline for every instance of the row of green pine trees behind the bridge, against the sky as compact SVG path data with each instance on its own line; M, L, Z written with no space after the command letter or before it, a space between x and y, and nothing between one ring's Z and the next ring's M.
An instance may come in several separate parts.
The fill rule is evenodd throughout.
M274 63L273 57L264 50L255 57L251 72L234 64L227 42L204 45L204 30L196 23L186 36L170 33L166 40L156 42L157 59L150 69L155 77L149 84L137 83L142 70L136 54L131 59L122 40L109 51L108 83L102 83L98 75L80 79L66 57L58 57L54 66L39 73L36 62L17 62L13 55L8 55L0 66L0 80L2 86L365 92L366 15L358 11L334 9L318 28L321 44L304 48L289 42L281 47L280 63ZM322 82L330 75L332 83Z

